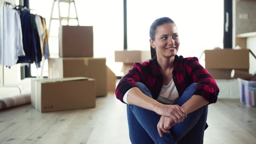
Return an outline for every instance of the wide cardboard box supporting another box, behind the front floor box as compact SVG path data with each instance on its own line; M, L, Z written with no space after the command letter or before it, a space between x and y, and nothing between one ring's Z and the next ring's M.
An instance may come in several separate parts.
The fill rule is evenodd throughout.
M96 80L96 96L108 95L106 58L49 58L48 78L86 77Z

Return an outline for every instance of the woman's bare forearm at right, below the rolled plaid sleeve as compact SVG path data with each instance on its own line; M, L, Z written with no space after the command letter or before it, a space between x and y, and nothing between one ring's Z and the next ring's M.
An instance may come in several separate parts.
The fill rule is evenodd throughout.
M207 105L209 102L201 95L192 95L192 97L181 107L186 109L187 114L193 112L200 107Z

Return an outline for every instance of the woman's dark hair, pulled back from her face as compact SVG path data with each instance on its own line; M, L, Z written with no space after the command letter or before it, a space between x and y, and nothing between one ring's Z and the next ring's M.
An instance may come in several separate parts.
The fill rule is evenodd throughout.
M155 35L157 33L158 26L162 26L166 23L174 23L174 21L169 17L161 17L156 19L150 26L149 37L152 40L155 40ZM151 45L150 45L150 52L151 52L151 60L157 57L156 49L154 49Z

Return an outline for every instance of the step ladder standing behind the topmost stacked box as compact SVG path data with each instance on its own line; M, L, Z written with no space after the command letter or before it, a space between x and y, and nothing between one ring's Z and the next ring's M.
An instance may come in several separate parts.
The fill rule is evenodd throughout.
M54 8L55 2L57 2L57 4L58 4L58 18L52 18L52 13L53 13L53 8ZM69 4L68 5L68 15L67 15L67 17L61 17L60 3L68 3ZM79 20L78 20L78 17L77 17L77 11L76 11L76 17L75 18L70 17L70 4L71 3L74 4L75 11L76 11L75 0L53 0L52 1L52 11L51 11L51 17L50 17L50 20L49 20L48 33L50 33L52 20L59 20L59 23L60 23L60 26L61 26L61 21L62 20L67 20L67 25L69 25L69 20L73 19L73 20L77 20L77 23L79 25Z

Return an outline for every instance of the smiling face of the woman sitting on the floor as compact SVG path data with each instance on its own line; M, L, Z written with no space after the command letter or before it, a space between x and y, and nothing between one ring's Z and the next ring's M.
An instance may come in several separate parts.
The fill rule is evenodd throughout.
M174 23L166 23L157 27L155 40L150 39L150 44L157 51L157 58L169 58L177 54L180 46L178 29Z

